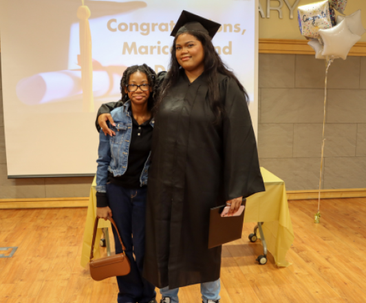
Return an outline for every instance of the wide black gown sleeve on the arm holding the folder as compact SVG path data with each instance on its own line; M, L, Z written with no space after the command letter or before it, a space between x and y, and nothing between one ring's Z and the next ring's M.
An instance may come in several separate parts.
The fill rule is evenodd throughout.
M259 168L257 142L244 92L235 80L226 78L220 83L224 91L225 116L224 182L225 198L244 198L265 191Z

